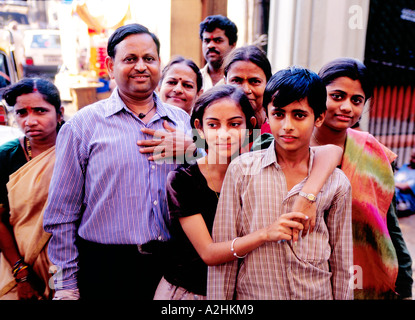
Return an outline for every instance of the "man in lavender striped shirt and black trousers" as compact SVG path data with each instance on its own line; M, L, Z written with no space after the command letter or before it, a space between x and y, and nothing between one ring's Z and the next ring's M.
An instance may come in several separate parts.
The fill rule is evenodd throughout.
M62 127L44 214L57 266L55 299L152 300L170 239L167 174L176 161L153 161L137 148L143 130L191 134L190 117L154 92L160 43L129 24L109 38L106 66L117 87Z

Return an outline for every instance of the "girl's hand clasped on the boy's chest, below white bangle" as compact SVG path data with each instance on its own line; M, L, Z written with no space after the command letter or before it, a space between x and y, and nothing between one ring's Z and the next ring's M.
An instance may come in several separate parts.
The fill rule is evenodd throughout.
M268 226L266 230L267 241L293 240L293 242L297 242L298 232L304 229L304 225L299 221L306 220L308 220L308 217L301 212L282 214L277 221Z

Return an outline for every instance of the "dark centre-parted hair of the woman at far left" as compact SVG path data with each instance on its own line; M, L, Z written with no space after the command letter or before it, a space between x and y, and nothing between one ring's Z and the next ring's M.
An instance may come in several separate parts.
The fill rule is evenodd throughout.
M39 92L43 99L55 107L56 114L61 113L61 98L58 88L49 81L43 78L23 78L8 86L3 92L3 99L6 103L13 107L16 100L23 94Z

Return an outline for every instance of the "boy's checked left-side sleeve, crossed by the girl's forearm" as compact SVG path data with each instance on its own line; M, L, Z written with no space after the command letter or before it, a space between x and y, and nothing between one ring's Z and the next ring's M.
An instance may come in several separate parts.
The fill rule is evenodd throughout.
M212 238L214 242L235 239L240 235L240 178L234 165L226 172L213 224ZM239 177L240 178L239 178ZM238 260L208 268L207 298L209 300L232 300L235 296Z

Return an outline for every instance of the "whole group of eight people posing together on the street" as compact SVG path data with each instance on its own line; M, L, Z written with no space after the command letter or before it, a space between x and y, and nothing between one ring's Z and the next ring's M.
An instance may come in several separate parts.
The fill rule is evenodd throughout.
M200 38L202 70L161 72L158 38L118 28L116 88L64 125L53 84L8 87L25 135L0 146L0 298L410 299L396 155L351 129L365 66L272 74L223 16Z

